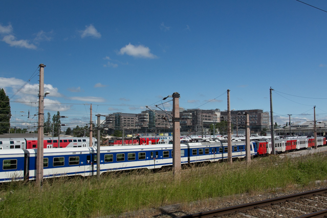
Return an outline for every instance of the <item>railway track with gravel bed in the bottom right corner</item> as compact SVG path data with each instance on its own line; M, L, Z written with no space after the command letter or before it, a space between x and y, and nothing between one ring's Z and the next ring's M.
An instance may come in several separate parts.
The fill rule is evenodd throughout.
M327 217L327 188L236 205L180 218L206 217Z

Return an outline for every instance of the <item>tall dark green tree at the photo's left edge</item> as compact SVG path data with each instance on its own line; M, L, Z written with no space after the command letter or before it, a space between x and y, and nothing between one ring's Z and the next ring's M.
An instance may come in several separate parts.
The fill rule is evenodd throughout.
M5 90L0 90L0 134L8 133L10 128L10 102Z

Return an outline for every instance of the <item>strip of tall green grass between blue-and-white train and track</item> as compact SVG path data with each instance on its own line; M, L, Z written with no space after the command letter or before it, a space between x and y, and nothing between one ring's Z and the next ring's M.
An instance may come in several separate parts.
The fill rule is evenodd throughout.
M107 173L96 178L45 180L0 186L0 217L97 217L226 195L261 192L327 179L326 155L306 159L256 158L187 167L179 179L171 171Z

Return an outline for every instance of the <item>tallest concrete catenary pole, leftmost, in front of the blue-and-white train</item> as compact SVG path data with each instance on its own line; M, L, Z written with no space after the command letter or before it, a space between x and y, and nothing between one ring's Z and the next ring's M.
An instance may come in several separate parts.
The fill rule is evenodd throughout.
M38 130L37 130L37 157L36 157L36 186L42 186L43 182L43 124L44 124L44 68L43 63L40 67L40 81L38 91Z

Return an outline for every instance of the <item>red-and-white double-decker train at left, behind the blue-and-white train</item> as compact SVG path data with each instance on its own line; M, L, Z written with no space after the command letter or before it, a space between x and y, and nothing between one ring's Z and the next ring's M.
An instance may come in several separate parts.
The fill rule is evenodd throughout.
M93 138L90 146L88 137L60 138L60 148L64 147L92 147L97 146L97 140ZM43 138L43 148L58 148L58 137ZM0 150L2 149L32 149L37 148L37 138L0 138Z

